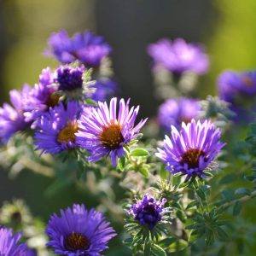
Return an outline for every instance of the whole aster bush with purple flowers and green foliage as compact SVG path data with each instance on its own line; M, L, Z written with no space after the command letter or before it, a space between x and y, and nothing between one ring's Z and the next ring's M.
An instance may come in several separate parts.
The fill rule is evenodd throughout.
M119 96L104 38L61 30L48 44L60 64L0 108L0 163L48 178L35 193L61 202L44 207L48 223L4 202L0 255L253 255L255 71L225 71L201 99L205 49L161 39L148 46L161 102L148 119Z

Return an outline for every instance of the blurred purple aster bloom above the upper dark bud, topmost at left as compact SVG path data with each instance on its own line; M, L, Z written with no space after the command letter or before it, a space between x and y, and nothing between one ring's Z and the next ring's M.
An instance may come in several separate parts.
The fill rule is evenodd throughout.
M49 37L49 53L62 64L80 61L85 67L99 67L102 59L111 52L102 37L92 32L76 33L69 38L66 31L52 33Z

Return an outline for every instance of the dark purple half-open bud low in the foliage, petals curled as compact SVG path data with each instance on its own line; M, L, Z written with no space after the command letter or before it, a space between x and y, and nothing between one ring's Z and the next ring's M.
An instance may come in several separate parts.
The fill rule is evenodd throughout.
M162 201L156 201L147 193L143 196L143 200L137 201L131 206L128 213L133 215L140 224L147 225L148 229L152 230L160 222L162 214L165 212L165 203L166 198L163 198Z

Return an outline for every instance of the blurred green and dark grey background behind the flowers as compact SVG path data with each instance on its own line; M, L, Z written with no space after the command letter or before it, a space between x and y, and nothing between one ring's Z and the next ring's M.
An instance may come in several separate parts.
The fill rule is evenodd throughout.
M154 116L148 44L160 38L185 38L205 44L210 71L199 83L201 98L216 94L216 78L225 68L256 67L255 0L0 0L0 102L9 90L38 82L44 67L58 62L45 56L51 32L91 30L113 47L113 70L120 96L141 105L142 116ZM21 172L9 179L0 172L0 202L24 198L34 215L47 220L52 211L87 198L79 189L55 196L41 193L50 178ZM35 189L37 188L37 189ZM63 196L64 195L64 196ZM47 207L46 207L47 206Z

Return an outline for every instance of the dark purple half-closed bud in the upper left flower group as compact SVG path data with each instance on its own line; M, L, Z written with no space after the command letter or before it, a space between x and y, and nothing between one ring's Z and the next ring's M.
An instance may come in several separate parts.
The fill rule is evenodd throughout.
M59 84L58 90L76 90L83 87L84 67L58 67L54 82Z

